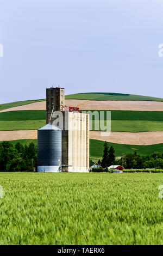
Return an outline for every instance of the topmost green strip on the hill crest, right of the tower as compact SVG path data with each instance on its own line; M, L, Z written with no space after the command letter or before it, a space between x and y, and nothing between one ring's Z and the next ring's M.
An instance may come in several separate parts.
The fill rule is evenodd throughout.
M122 94L122 93L77 93L66 95L65 99L74 100L147 100L147 101L163 101L158 97Z

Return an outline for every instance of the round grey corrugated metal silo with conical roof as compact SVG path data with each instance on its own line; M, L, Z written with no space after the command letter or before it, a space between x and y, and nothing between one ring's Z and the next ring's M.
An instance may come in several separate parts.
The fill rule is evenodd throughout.
M61 172L61 130L47 124L37 131L37 171Z

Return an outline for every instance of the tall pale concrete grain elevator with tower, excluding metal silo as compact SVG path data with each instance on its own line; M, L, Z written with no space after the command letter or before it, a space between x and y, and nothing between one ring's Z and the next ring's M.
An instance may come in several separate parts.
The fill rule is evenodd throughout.
M56 114L59 112L58 114ZM65 89L46 89L46 123L60 115L62 131L62 172L89 172L89 114L78 106L65 105ZM54 122L55 125L58 124Z

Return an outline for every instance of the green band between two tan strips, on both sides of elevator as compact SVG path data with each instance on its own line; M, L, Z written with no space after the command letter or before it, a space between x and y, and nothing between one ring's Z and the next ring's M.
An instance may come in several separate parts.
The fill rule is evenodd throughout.
M91 112L93 112L93 110ZM106 119L106 111L104 113ZM3 112L0 113L0 130L7 131L39 129L41 126L45 125L45 119L45 110ZM103 123L103 121L101 122ZM97 130L95 123L96 120L93 120L93 130ZM106 125L106 121L104 124ZM111 131L163 131L163 112L111 111Z

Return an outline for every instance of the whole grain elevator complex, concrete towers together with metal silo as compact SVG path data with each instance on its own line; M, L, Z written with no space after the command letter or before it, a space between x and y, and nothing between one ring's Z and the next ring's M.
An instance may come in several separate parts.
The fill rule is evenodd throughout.
M46 123L38 130L38 172L89 172L89 114L65 106L64 88L46 89Z

